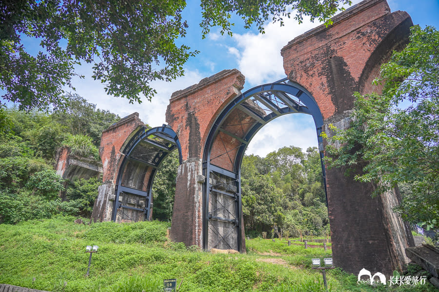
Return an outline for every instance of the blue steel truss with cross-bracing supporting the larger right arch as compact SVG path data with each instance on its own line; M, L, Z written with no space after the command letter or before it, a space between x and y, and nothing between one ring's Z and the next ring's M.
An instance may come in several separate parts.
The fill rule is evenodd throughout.
M245 112L248 116L251 116L253 120L255 120L255 122L252 123L253 125L250 127L250 129L247 130L246 133L244 133L245 135L243 137L239 137L235 133L231 133L226 128L223 128L224 121L226 121L227 117L236 109L240 110L241 112ZM235 223L234 231L236 232L236 236L234 236L233 238L236 238L237 242L227 241L226 237L229 236L230 230L227 231L227 234L221 234L220 232L217 233L218 230L216 229L210 229L212 232L215 232L216 236L219 238L217 244L218 242L223 241L225 242L225 246L233 245L237 246L238 250L240 249L242 241L242 236L240 232L240 225L242 224L240 172L244 152L247 149L248 144L260 128L262 128L271 120L289 113L306 113L312 115L314 123L316 125L320 158L323 158L323 142L322 137L320 136L323 127L323 117L321 115L319 107L315 99L308 91L306 91L299 84L291 82L287 78L281 79L274 83L260 85L248 91L245 91L233 101L231 101L224 108L224 110L222 110L222 112L216 119L206 139L206 144L204 146L203 152L203 175L207 178L203 186L203 248L205 250L209 250L210 248L214 247L209 246L208 241L208 231L210 226L209 223L212 222L212 220L229 221ZM211 158L212 146L215 138L217 137L217 135L219 135L219 132L229 135L230 137L235 138L240 142L233 165L233 171L223 169L220 166L212 163L212 160L219 157L216 156L214 158ZM224 143L223 146L226 151L221 155L229 155L229 151L233 149L226 149ZM229 159L230 161L232 161L230 156ZM326 192L325 169L323 167L323 163L321 165ZM236 197L236 203L234 206L235 210L232 210L233 212L229 212L230 214L234 214L233 220L214 216L213 211L215 210L209 210L209 199L210 196L212 196L212 192L221 194L221 191L216 190L215 186L211 185L209 180L211 174L213 176L220 175L222 177L229 178L231 186L233 185L233 187L229 187L230 191L222 191L223 195ZM213 197L212 201L214 199L217 200L215 197Z

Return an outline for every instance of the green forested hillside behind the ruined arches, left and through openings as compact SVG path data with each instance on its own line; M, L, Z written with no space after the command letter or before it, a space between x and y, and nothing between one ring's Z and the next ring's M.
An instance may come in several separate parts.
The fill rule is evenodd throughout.
M55 154L69 146L78 156L100 160L105 128L120 120L96 109L77 94L68 106L51 112L7 109L9 130L0 134L0 223L65 214L90 218L100 177L65 183L55 173ZM172 218L178 153L160 166L153 188L154 219ZM246 155L242 170L242 208L248 236L328 235L320 157L317 149L289 146L265 158ZM59 198L65 191L65 200Z

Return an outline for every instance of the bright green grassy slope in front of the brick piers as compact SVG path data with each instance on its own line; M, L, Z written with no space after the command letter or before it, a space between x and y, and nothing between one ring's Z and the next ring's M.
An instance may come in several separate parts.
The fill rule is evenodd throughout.
M213 255L170 242L165 237L168 223L79 225L74 219L0 224L0 283L53 292L159 292L164 279L177 278L180 284L184 278L180 292L324 291L321 274L309 265L313 257L331 256L330 249L305 250L279 239L255 238L246 240L247 254ZM99 245L88 277L86 245ZM358 285L356 275L339 269L329 271L327 278L332 292L435 291L429 284Z

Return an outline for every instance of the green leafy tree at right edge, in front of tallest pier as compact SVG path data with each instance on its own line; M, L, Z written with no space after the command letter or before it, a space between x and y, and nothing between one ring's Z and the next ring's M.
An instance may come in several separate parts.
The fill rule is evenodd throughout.
M411 222L439 224L439 32L411 28L410 43L381 67L382 95L355 94L351 127L332 127L332 166L365 165L356 180L376 194L403 183L397 210ZM341 147L336 147L338 142Z

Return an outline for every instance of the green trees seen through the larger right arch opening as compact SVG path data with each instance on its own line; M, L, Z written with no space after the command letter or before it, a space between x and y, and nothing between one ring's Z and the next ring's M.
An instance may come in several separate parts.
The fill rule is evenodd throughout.
M316 147L282 147L265 158L244 156L242 212L247 234L275 229L291 236L326 235L329 229L320 155Z

